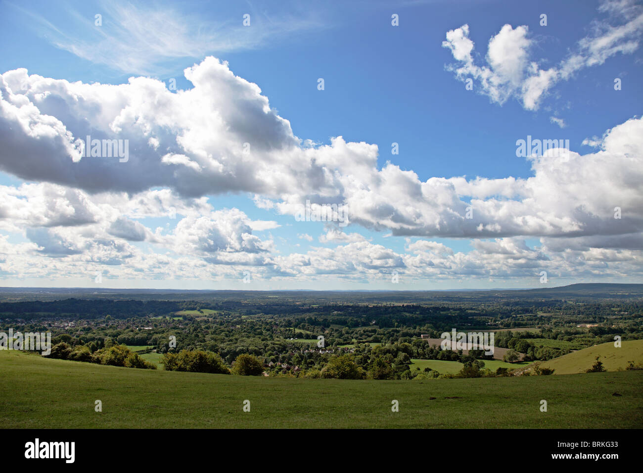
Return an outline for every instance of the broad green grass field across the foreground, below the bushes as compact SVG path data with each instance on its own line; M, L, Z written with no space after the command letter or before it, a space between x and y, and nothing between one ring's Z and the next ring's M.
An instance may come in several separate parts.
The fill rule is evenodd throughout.
M99 366L0 351L17 428L640 428L643 371L422 381L309 380ZM620 396L613 396L619 393ZM548 411L539 411L547 400ZM102 401L102 412L94 410ZM250 412L242 410L249 400ZM399 412L391 411L392 400Z

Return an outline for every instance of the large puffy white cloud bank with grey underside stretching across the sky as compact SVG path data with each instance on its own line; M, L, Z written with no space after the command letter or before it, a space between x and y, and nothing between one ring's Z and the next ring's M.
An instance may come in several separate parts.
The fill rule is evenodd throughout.
M504 78L499 87L520 82L521 59L508 58L512 48L523 48L524 39L523 32L509 28L502 34L502 44L494 42L491 54L494 64L503 64L496 67ZM341 136L330 145L302 145L255 84L212 57L186 69L186 77L194 88L172 93L163 83L141 77L109 86L9 71L0 82L5 145L0 168L89 194L134 196L165 187L192 205L208 194L247 191L257 196L260 207L293 216L309 199L312 205L342 206L350 223L405 236L590 236L643 230L640 118L609 130L595 143L601 147L596 153L572 151L561 157L550 150L531 158L534 175L527 179L422 181L394 163L378 169L376 145L345 142ZM81 156L75 141L87 134L129 140L129 160ZM59 192L63 195L55 201L63 207L42 225L91 220L93 212L85 209L91 203L78 201L77 190ZM45 200L43 205L54 203ZM618 221L615 207L622 209ZM125 235L123 225L111 233ZM141 228L127 233L134 240L143 236Z

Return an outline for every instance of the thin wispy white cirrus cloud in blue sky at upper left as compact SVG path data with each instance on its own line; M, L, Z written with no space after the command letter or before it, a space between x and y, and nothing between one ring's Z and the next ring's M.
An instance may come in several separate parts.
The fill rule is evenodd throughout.
M225 53L264 46L269 40L324 27L320 13L300 11L287 4L278 15L267 15L247 5L242 14L185 12L176 6L132 5L101 2L95 15L69 8L68 21L52 23L41 15L15 6L35 19L39 33L57 48L95 64L123 73L161 75L174 71L177 59L203 59L210 53ZM249 26L244 26L244 14ZM185 62L185 60L183 61Z

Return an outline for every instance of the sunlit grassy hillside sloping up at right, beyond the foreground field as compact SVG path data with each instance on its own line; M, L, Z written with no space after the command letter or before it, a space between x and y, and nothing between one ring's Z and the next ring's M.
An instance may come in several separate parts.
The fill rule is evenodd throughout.
M633 361L635 364L643 363L643 340L621 342L620 348L615 348L614 342L584 348L543 362L542 366L556 369L554 373L556 375L584 373L586 369L592 367L599 355L603 366L608 371L625 369L628 361Z

